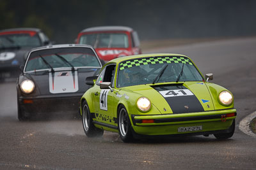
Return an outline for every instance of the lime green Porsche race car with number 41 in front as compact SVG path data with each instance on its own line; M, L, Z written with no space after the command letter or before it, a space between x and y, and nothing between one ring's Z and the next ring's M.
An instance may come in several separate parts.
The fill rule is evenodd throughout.
M118 132L137 137L214 134L231 138L236 109L230 91L209 83L194 62L179 54L145 54L109 61L81 97L86 136Z

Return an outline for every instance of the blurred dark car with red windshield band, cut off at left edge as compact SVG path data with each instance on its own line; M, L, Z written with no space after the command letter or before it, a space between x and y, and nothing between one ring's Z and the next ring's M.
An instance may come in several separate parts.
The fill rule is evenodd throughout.
M19 76L31 48L51 45L44 32L36 28L4 29L0 31L0 79Z

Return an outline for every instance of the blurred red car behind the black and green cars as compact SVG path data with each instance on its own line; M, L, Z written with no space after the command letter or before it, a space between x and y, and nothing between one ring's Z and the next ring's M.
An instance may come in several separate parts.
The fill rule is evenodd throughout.
M78 34L76 43L92 45L100 59L105 61L141 53L137 32L124 26L84 29Z

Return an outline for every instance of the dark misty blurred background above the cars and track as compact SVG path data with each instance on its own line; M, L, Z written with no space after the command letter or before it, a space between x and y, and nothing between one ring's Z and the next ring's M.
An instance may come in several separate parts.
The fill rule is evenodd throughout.
M38 27L56 43L74 43L87 27L124 25L152 39L256 35L254 0L1 0L0 29Z

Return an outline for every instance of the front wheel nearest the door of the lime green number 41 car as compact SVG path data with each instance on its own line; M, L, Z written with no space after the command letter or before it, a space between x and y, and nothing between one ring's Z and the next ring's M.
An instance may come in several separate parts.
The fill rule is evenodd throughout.
M120 106L118 109L118 132L122 141L133 141L131 122L124 106Z

